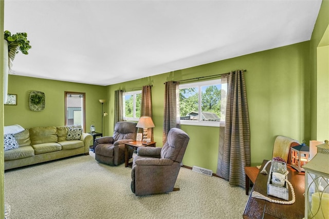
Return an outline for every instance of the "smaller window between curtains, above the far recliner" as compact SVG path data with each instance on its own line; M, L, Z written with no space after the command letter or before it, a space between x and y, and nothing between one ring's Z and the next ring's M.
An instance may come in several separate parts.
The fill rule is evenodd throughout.
M138 121L140 117L142 91L123 93L123 119L126 121Z

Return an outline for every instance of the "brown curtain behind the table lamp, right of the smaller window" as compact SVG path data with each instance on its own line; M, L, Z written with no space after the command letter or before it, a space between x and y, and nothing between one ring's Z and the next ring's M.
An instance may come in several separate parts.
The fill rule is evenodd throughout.
M140 115L150 116L152 118L152 86L151 85L143 86L142 88ZM148 128L148 138L151 138L151 141L153 142L153 128Z

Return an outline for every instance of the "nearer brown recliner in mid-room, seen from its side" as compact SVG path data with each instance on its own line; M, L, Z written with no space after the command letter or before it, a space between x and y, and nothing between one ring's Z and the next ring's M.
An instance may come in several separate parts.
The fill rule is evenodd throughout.
M170 129L162 148L139 147L132 167L131 189L136 195L172 192L190 137Z

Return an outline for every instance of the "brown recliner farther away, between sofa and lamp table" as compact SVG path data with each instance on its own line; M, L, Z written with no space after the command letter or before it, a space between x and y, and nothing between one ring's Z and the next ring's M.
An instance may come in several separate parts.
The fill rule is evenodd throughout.
M115 124L111 137L99 137L95 139L96 161L108 165L117 166L124 163L124 143L136 140L137 123L118 122ZM129 150L129 158L134 150Z

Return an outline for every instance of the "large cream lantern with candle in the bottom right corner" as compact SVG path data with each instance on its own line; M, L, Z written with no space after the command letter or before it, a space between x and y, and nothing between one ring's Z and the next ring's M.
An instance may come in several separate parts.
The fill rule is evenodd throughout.
M305 169L305 219L329 218L329 142L318 145L318 153Z

